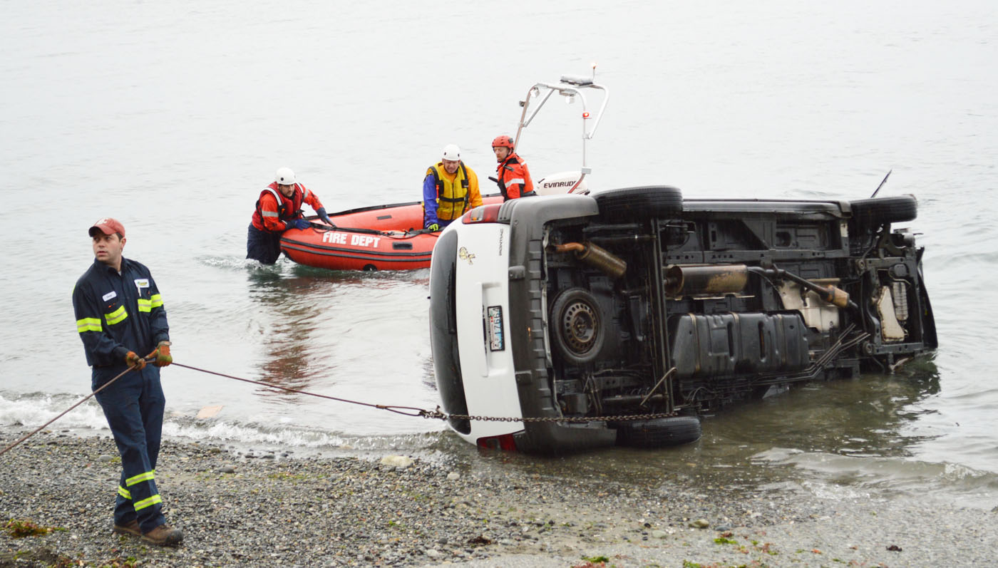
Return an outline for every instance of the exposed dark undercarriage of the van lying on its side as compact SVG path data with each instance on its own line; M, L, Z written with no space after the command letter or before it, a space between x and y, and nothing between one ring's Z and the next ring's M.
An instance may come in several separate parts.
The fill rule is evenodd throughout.
M911 197L596 196L545 228L552 403L565 416L698 414L802 380L890 371L936 346Z

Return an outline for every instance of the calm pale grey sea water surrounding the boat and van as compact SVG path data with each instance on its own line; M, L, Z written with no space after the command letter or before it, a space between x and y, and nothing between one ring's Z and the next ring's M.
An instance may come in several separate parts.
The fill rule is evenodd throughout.
M178 362L433 408L428 273L247 263L258 191L289 166L330 211L414 201L448 143L484 179L527 89L595 62L611 91L589 146L595 189L861 199L893 170L880 195L919 198L934 357L733 409L693 446L599 460L478 456L437 422L177 367L167 432L998 504L992 2L40 1L8 4L0 32L0 427L87 393L70 291L104 216L153 270ZM578 105L549 105L520 145L535 178L581 163ZM194 418L209 405L223 409ZM54 427L106 433L95 404Z

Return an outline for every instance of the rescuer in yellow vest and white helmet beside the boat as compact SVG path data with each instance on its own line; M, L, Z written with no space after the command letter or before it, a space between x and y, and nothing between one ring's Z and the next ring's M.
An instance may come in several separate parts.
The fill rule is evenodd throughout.
M440 231L480 205L478 176L461 161L461 149L448 144L443 160L427 168L423 179L423 228Z

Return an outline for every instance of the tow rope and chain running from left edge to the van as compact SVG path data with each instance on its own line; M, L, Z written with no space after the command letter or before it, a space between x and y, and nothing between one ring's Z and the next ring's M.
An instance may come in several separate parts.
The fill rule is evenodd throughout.
M149 361L149 360L152 360L152 359L146 359L146 360ZM349 398L340 398L338 396L330 396L328 394L318 394L318 393L315 393L315 392L307 392L305 390L299 390L297 388L290 388L290 387L287 387L287 386L280 386L280 385L277 385L277 384L270 384L268 382L263 382L261 380L252 380L250 378L243 378L243 377L239 377L239 376L233 376L231 374L226 374L226 373L218 372L218 371L214 371L214 370L208 370L208 369L196 367L196 366L193 366L193 365L186 365L186 364L179 363L179 362L176 362L176 361L173 362L173 363L171 363L171 364L173 364L174 366L179 366L179 367L183 367L183 368L189 368L191 370L197 370L197 371L205 372L205 373L208 373L208 374L214 374L216 376L222 376L222 377L225 377L225 378L231 378L233 380L241 380L243 382L250 382L252 384L258 384L260 386L265 386L267 388L277 388L277 389L280 389L280 390L286 390L287 392L296 392L298 394L306 394L308 396L316 396L318 398L327 398L329 400L336 400L338 402L347 402L349 404L358 404L360 406L369 406L371 408L377 408L379 410L387 410L389 412L394 412L396 414L402 414L403 416L421 416L423 418L438 419L438 420L475 420L475 421L481 421L481 422L573 422L573 423L585 423L585 422L605 422L605 421L610 421L610 422L625 422L625 421L634 421L634 420L652 420L652 419L655 419L655 418L668 418L668 417L673 417L673 416L677 416L678 415L678 412L657 412L657 413L651 413L651 414L622 414L622 415L617 415L617 416L477 416L477 415L469 415L469 414L450 414L450 413L447 413L447 412L444 412L444 411L440 410L440 406L437 406L436 409L434 409L434 410L426 410L425 408L419 408L419 407L416 407L416 406L401 406L401 405L397 405L397 404L374 404L372 402L361 402L359 400L350 400ZM62 411L55 418L52 418L48 422L45 422L41 426L38 426L32 432L30 432L29 434L25 435L21 439L17 440L16 442L14 442L14 443L10 444L9 446L5 447L4 449L0 450L0 455L3 455L8 450L13 449L15 446L17 446L21 442L23 442L23 441L27 440L28 438L30 438L31 436L37 434L38 432L40 432L43 428L45 428L46 426L48 426L52 422L55 422L59 418L62 418L63 416L65 416L66 414L68 414L70 410L76 408L80 404L83 404L88 399L90 399L90 397L92 397L95 394L97 394L98 392L104 390L108 386L111 386L111 384L114 381L118 380L119 378L121 378L122 376L124 376L125 373L129 372L130 370L133 370L134 368L135 368L134 366L131 366L131 367L123 370L117 376L115 376L114 378L112 378L108 382L106 382L103 385L101 385L100 388L98 388L97 390L91 392L87 396L84 396L76 404L73 404L72 406L70 406L66 410Z

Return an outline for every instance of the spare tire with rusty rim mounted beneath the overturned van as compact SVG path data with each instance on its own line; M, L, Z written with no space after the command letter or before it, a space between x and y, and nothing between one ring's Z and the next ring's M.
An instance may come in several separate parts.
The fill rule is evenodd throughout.
M570 363L592 362L603 350L606 318L596 296L581 287L562 290L551 305L551 331L555 347Z

